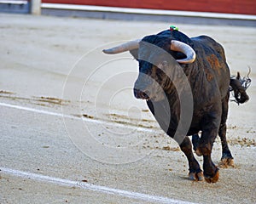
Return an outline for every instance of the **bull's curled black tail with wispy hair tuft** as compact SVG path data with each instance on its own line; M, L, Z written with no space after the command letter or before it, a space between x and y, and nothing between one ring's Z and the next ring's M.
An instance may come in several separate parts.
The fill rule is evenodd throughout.
M235 97L235 99L231 100L235 101L238 105L247 102L249 96L246 90L250 84L251 79L249 78L249 74L247 77L241 77L240 73L237 72L236 77L230 77L230 92L233 92L233 96Z

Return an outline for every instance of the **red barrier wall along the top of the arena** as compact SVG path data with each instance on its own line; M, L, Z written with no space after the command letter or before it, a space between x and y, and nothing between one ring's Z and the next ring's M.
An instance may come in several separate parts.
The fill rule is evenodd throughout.
M164 10L215 12L227 14L256 14L255 0L42 0L42 3L68 3L108 7L151 8Z

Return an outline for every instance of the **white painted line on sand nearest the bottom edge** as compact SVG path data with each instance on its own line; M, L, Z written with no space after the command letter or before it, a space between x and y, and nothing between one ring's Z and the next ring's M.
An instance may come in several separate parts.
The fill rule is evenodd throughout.
M67 179L63 179L63 178L55 178L55 177L45 176L45 175L38 174L38 173L22 172L19 170L10 169L10 168L6 168L6 167L0 167L0 170L1 170L0 173L6 173L6 174L14 175L17 177L21 177L21 178L29 178L32 180L37 180L37 181L51 183L51 184L59 184L62 186L77 187L77 188L84 189L84 190L93 190L93 191L97 191L97 192L101 192L101 193L105 193L105 194L119 195L119 196L128 197L131 199L142 200L142 201L168 203L168 204L172 204L172 203L191 204L191 202L178 201L178 200L174 200L174 199L168 198L168 197L162 197L162 196L157 196L157 195L148 195L148 194L137 193L137 192L132 192L132 191L128 191L128 190L113 189L113 188L109 188L106 186L81 183L79 181L67 180Z

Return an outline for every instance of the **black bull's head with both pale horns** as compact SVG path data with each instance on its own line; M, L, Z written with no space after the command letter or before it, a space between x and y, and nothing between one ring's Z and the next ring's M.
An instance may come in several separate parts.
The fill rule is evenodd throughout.
M172 70L170 54L172 59L176 59L180 64L195 61L195 51L188 44L158 35L143 37L103 50L105 54L126 51L130 51L139 62L139 76L134 85L134 95L137 99L164 99L166 90L172 86L170 74L166 74Z

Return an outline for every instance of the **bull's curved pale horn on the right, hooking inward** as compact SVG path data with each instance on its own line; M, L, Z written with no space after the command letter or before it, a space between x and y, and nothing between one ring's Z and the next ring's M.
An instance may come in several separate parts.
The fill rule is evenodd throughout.
M187 56L185 59L177 59L178 63L190 64L195 61L195 50L184 42L172 40L171 50L181 52Z

